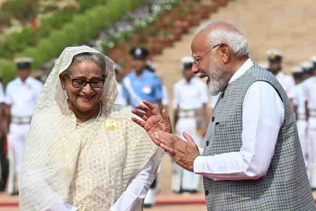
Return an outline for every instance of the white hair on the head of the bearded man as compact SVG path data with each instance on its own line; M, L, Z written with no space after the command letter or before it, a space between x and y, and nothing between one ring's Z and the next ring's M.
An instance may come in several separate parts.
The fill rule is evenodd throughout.
M224 21L206 22L204 24L201 24L197 28L196 35L199 32L205 30L206 28L208 28L209 26L215 23L225 23L225 24L233 25L232 23L224 22ZM209 45L213 45L213 46L220 43L227 44L230 48L232 48L233 52L238 57L249 55L248 41L245 39L245 37L242 34L240 34L236 30L229 30L222 27L215 28L214 30L210 31L208 35L208 40L210 42Z

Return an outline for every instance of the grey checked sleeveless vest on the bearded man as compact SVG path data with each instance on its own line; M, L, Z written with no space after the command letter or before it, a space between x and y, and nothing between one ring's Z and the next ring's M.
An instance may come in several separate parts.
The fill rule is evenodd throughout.
M207 210L316 211L289 100L276 78L258 65L253 65L230 83L219 97L208 127L203 156L240 150L243 99L256 81L271 84L284 104L284 123L277 137L274 157L267 175L257 180L215 182L204 177Z

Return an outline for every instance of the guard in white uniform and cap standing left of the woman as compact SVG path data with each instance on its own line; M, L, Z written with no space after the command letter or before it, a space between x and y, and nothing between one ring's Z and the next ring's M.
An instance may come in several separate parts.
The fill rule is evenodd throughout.
M5 103L10 108L11 123L8 135L9 178L8 193L18 194L19 175L22 171L24 145L33 111L42 84L32 78L32 59L16 59L17 78L6 87Z

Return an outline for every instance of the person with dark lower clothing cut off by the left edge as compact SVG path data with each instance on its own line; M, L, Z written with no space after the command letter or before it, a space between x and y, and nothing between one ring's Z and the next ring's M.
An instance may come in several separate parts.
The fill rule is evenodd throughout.
M7 135L7 115L6 106L4 104L4 91L0 82L0 191L5 189L8 162L5 153L6 135Z

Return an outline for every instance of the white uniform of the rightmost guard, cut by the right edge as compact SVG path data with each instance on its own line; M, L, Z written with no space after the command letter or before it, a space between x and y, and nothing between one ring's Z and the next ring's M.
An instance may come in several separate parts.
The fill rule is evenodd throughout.
M312 188L316 188L316 76L304 82L308 102L308 171Z

